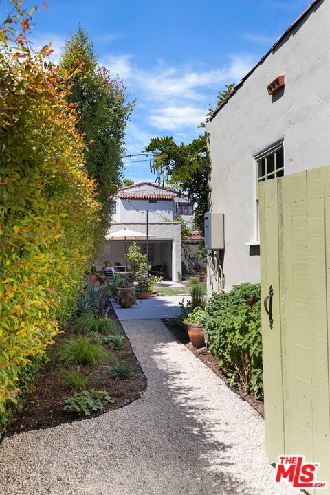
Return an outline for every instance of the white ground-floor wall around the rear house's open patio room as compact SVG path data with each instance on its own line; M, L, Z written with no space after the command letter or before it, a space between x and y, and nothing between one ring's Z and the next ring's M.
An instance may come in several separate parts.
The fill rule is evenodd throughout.
M117 232L121 229L135 230L146 235L145 223L116 223L111 224L107 234ZM157 242L156 241L170 241ZM143 241L145 243L146 241ZM140 243L140 241L139 241ZM173 281L177 281L177 272L181 272L181 223L165 222L149 224L149 243L155 243L155 264L166 263L168 274ZM156 247L157 244L157 247ZM109 241L110 252L103 252L98 255L99 264L105 259L111 263L120 261L124 265L124 242Z

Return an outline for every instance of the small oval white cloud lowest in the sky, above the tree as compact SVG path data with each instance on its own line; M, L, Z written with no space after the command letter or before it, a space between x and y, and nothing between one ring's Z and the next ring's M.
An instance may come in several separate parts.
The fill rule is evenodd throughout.
M185 126L198 126L205 120L205 110L195 107L166 107L151 115L150 121L157 129L175 131Z

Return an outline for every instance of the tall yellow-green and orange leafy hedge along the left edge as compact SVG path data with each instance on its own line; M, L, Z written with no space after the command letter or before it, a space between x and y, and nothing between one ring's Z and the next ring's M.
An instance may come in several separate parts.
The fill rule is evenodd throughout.
M45 354L74 307L100 208L67 102L70 74L44 68L52 50L31 52L31 16L12 3L0 28L0 431L24 367Z

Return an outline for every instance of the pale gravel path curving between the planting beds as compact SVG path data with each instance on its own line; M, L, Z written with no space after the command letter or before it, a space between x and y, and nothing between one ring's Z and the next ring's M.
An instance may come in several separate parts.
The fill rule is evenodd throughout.
M263 421L159 320L122 322L148 378L95 419L6 438L1 495L291 495L274 483Z

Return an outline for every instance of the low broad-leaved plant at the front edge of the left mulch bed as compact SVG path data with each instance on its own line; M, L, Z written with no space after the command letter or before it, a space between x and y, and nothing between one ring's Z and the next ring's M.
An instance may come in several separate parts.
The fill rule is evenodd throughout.
M92 412L103 410L107 404L113 404L114 400L106 391L83 391L74 394L65 401L64 410L67 412L80 412L85 416Z

